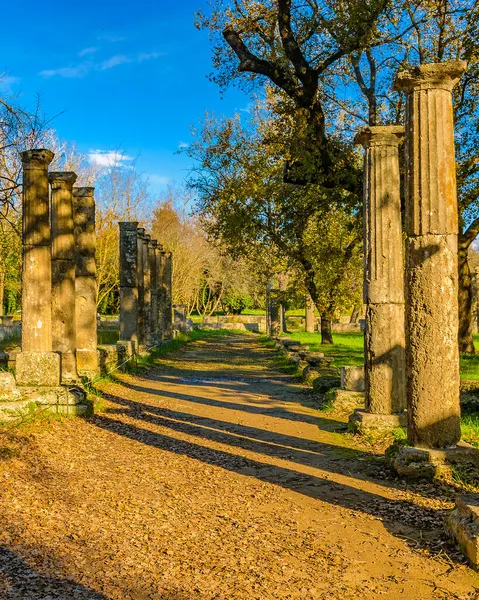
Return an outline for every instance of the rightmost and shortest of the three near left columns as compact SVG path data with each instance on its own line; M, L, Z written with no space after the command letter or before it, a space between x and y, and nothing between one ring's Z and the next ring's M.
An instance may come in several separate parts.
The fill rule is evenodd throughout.
M76 246L75 312L77 371L83 377L98 373L96 322L95 188L73 188Z

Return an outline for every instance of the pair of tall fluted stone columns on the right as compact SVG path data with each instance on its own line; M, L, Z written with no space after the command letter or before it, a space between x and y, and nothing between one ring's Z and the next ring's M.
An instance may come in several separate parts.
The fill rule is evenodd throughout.
M458 206L452 91L466 63L400 73L406 126L368 127L365 148L367 425L405 419L411 446L446 448L460 439ZM399 148L405 140L405 256Z

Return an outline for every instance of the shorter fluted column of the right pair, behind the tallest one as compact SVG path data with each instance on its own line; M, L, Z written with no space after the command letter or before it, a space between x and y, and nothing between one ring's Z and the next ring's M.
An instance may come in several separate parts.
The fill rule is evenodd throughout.
M364 301L366 410L376 415L406 408L404 253L399 144L404 128L368 127L364 146ZM392 426L396 423L392 422Z

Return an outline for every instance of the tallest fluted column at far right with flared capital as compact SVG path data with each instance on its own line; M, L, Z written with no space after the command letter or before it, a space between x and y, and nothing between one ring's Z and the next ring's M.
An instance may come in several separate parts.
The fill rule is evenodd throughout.
M444 448L461 436L458 207L452 90L466 63L400 73L406 104L406 382L408 441Z

